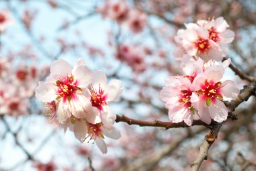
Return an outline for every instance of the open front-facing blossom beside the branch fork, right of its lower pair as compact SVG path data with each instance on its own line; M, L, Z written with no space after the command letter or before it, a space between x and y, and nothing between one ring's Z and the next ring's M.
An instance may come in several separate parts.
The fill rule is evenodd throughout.
M224 75L226 65L211 65L206 67L203 73L195 77L193 87L196 93L191 96L191 102L201 120L207 124L211 119L221 123L228 116L223 100L234 98L239 94L239 90L233 81L220 81Z

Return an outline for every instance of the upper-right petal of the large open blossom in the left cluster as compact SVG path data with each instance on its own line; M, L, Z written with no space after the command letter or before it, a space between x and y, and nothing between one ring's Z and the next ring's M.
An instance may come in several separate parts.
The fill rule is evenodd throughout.
M92 72L85 65L76 67L73 70L74 79L78 81L79 88L87 88L92 82Z

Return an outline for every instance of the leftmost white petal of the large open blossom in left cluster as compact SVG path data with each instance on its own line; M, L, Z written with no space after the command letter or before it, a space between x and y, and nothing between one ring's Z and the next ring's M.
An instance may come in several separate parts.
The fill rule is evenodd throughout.
M55 85L53 83L43 83L42 81L38 82L38 86L35 90L36 98L41 102L52 102L57 98L55 92Z

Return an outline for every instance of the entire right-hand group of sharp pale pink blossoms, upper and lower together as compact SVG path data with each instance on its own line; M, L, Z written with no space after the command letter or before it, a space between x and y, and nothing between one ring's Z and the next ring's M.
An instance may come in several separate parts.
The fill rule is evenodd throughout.
M160 98L174 123L184 121L191 126L194 119L207 124L212 119L221 123L228 117L224 100L235 98L239 90L233 81L222 81L230 59L221 65L216 61L228 53L226 44L232 42L234 33L226 29L228 24L223 18L199 20L185 26L186 30L178 30L179 47L174 52L183 56L181 68L185 75L168 77Z

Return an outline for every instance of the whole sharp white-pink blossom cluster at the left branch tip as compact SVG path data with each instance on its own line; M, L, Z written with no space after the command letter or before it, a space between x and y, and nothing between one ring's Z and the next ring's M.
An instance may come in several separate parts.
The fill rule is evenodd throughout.
M91 71L82 59L71 67L59 59L51 65L51 74L36 88L36 98L45 103L46 115L69 128L83 143L93 140L102 153L107 152L104 136L119 139L121 134L113 124L116 115L108 102L119 99L123 90L117 79L106 83L102 71Z

